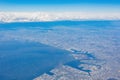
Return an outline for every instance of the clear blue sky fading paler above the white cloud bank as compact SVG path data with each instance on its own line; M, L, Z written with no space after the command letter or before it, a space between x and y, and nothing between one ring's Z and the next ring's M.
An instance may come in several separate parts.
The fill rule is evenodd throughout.
M120 12L120 0L0 0L0 11Z

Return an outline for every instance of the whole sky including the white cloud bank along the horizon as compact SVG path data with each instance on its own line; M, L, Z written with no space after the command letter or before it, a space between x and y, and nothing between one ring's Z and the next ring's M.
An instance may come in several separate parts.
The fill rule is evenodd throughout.
M10 22L18 19L20 21L118 20L120 0L0 0L0 21Z

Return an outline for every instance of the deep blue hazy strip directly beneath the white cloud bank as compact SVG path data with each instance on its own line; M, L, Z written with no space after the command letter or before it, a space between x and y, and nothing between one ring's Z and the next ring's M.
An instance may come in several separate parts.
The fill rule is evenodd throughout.
M14 28L51 28L55 26L68 26L68 27L84 27L84 28L106 28L117 23L115 20L105 20L105 21L51 21L51 22L13 22L13 23L0 23L0 29L14 29Z

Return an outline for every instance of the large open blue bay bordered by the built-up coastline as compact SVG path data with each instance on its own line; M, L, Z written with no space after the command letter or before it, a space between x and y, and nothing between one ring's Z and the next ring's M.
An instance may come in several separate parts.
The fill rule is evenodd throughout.
M32 80L71 61L68 51L34 42L0 42L0 80Z

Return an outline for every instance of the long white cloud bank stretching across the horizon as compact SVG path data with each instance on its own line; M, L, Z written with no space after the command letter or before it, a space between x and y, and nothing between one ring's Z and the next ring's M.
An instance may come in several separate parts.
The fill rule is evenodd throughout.
M120 20L120 14L82 12L0 12L0 22L39 22L56 20Z

